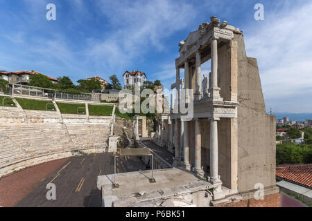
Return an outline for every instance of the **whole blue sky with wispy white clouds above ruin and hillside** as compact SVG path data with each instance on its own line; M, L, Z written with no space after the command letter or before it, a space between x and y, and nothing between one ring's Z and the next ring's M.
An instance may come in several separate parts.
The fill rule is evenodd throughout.
M56 21L46 20L55 3ZM254 20L254 5L264 21ZM178 43L216 15L243 30L256 57L266 109L312 112L312 1L0 0L0 70L76 81L139 68L168 87ZM209 73L209 64L202 66ZM183 77L183 73L182 73Z

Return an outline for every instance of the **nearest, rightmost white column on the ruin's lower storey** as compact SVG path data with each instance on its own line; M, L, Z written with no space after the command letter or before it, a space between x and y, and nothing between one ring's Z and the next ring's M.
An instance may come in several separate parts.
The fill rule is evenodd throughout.
M218 120L213 117L210 119L210 182L220 183L218 175Z

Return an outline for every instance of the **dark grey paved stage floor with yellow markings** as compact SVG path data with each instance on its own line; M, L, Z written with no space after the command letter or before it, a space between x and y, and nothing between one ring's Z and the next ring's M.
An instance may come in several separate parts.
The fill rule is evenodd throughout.
M101 206L101 191L96 188L96 180L98 175L114 173L113 159L112 153L71 157L56 167L53 173L41 178L41 180L37 180L35 189L15 206ZM138 157L123 158L117 162L117 173L139 171L140 169L144 170L146 166ZM30 174L30 176L34 174ZM21 182L21 180L17 182ZM46 189L46 184L50 182L56 186L56 200L46 199L46 193L49 191L49 189ZM14 192L15 189L10 189L10 191ZM8 206L13 206L13 204Z

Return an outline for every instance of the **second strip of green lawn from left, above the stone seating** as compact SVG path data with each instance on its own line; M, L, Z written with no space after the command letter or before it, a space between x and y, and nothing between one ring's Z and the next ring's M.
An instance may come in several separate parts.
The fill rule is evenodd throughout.
M15 97L21 108L36 111L56 111L52 102Z

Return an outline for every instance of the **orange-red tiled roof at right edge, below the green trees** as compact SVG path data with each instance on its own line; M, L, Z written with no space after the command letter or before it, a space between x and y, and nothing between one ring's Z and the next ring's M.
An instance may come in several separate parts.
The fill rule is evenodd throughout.
M312 164L277 166L276 175L284 180L312 188Z

